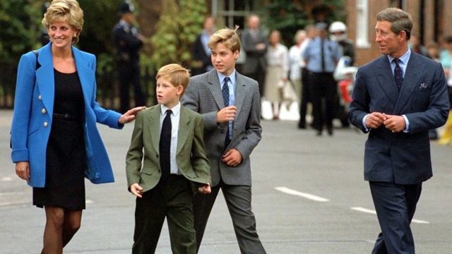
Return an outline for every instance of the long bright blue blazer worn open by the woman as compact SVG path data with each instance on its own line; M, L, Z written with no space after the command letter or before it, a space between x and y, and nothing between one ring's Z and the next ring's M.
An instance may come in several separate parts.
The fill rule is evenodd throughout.
M54 112L54 66L52 43L38 50L41 67L35 73L36 56L23 54L18 65L16 99L11 124L11 158L13 162L29 162L32 187L45 186L46 151ZM72 47L78 78L85 99L85 151L88 169L85 176L93 183L114 181L107 151L97 131L96 122L112 128L121 114L103 109L96 102L96 59L93 54ZM35 79L36 76L36 79ZM35 82L36 81L36 82Z

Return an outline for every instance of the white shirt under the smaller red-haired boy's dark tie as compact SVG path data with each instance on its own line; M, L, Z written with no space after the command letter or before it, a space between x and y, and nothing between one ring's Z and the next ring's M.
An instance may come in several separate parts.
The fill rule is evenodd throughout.
M167 115L167 107L160 104L160 133L162 133L163 119ZM171 147L169 148L169 163L170 174L181 174L177 168L176 152L177 152L177 134L179 133L179 121L181 119L181 102L178 102L176 106L171 109Z

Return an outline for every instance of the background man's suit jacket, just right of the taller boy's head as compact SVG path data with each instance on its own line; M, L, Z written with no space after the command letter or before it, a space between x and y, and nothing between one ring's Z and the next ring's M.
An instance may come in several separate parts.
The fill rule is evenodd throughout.
M256 39L253 38L249 30L245 30L242 34L242 47L246 53L245 63L243 65L243 73L250 74L256 71L266 71L266 53L265 49L256 49L256 44L267 43L267 37L258 32Z

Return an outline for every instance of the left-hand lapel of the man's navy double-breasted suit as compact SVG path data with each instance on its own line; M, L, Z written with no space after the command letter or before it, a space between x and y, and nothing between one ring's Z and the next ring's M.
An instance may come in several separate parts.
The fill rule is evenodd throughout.
M396 105L398 90L396 81L394 81L394 75L391 71L391 66L388 61L388 56L381 56L379 59L378 68L375 69L376 79L379 82L381 90L386 94L388 99L393 105Z

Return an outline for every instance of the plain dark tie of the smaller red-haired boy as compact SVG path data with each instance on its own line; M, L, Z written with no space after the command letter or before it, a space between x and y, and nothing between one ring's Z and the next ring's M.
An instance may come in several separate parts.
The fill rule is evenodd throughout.
M167 115L163 119L162 131L160 132L160 169L162 169L162 180L169 176L171 164L169 162L169 154L171 152L171 109L167 110Z

